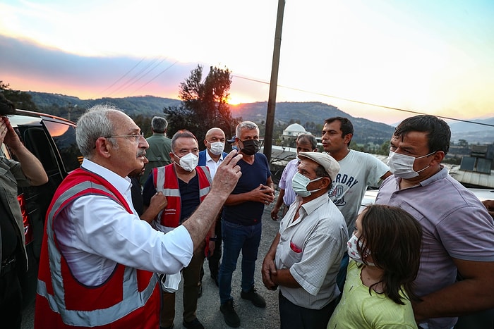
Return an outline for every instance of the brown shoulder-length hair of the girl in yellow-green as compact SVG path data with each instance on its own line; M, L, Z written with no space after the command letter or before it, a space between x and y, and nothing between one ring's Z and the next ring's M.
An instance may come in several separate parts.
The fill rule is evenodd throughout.
M361 223L359 240L363 243L357 249L361 255L370 254L375 266L384 270L380 280L384 294L401 305L404 305L402 289L409 299L420 300L413 292L413 283L420 266L421 224L403 209L384 204L367 206Z

